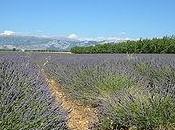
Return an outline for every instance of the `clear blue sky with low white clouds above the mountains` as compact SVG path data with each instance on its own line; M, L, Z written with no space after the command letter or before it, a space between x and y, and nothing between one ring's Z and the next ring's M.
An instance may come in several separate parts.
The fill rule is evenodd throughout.
M0 32L126 39L173 35L175 0L0 0Z

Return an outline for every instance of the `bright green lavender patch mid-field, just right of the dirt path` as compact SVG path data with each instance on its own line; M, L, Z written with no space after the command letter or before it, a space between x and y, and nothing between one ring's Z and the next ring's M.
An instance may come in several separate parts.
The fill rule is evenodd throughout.
M71 97L93 105L98 101L107 100L108 97L122 89L135 85L135 82L126 75L100 71L98 67L86 68L73 73L70 82L66 83L68 88L66 86L64 88Z

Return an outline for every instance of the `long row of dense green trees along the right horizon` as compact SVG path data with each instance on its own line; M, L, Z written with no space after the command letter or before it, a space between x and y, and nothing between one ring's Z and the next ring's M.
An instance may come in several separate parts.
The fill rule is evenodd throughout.
M89 47L74 47L72 53L175 53L175 37L140 39L119 44L103 44Z

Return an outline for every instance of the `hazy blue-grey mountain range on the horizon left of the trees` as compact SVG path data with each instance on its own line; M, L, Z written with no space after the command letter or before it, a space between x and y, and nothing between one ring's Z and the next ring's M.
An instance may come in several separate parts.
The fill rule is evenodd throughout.
M47 38L35 36L0 35L0 49L59 50L69 51L75 46L92 46L108 41L74 40L69 38Z

